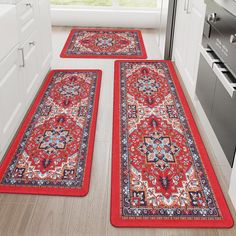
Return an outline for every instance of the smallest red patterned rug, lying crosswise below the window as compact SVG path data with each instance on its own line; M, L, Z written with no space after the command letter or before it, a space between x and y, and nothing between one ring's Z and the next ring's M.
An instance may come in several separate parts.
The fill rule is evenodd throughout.
M141 31L73 29L61 57L147 58Z

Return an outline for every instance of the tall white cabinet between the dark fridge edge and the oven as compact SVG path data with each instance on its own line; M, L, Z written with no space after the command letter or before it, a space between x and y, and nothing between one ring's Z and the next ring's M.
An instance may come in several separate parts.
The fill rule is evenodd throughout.
M173 60L191 98L194 98L206 5L204 0L177 2Z

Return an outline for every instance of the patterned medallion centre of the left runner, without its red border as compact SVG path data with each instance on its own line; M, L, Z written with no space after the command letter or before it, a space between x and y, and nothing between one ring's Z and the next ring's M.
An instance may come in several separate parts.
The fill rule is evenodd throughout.
M81 188L93 116L96 71L57 71L1 185Z

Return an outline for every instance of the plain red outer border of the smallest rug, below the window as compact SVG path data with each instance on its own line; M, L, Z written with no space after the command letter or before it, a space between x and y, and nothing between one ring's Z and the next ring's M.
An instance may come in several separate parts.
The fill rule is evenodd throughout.
M104 31L106 31L106 30L109 30L109 31L112 31L112 32L123 32L123 31L128 31L128 32L137 32L138 33L138 36L139 36L139 38L140 38L140 46L141 46L141 50L142 50L142 52L143 52L143 55L141 55L141 56L110 56L110 55L70 55L70 56L68 56L67 54L66 54L66 51L67 51L67 48L68 48L68 46L69 46L69 44L70 44L70 42L71 42L71 39L72 39L72 37L73 37L73 34L74 34L74 32L76 32L76 31L78 31L78 30L87 30L87 31L101 31L101 30L104 30ZM141 30L136 30L136 29L134 29L134 30L132 30L132 29L114 29L114 28L112 28L112 29L109 29L109 28L73 28L71 31L70 31L70 33L69 33L69 36L67 37L67 40L66 40L66 43L65 43L65 45L64 45L64 47L63 47L63 49L62 49L62 52L60 53L60 57L61 58L90 58L90 59L92 59L92 58L94 58L94 59L96 59L96 58L103 58L103 59L132 59L132 58L134 58L134 59L146 59L147 58L147 52L146 52L146 48L145 48L145 44L144 44L144 40L143 40L143 36L142 36L142 32L141 32Z

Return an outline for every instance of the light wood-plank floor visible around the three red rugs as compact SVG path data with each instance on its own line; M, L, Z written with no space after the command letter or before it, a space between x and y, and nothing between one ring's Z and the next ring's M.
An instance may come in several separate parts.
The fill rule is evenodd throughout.
M90 192L86 197L55 197L37 195L0 195L1 236L235 236L232 229L122 229L110 224L111 130L114 60L60 59L59 52L69 28L54 28L53 68L98 68L103 70L96 141ZM159 59L155 32L144 30L149 59ZM197 114L195 114L199 122ZM235 218L227 188L229 171L219 162L208 145L204 128L203 139Z

